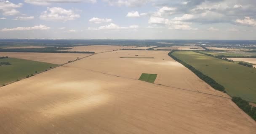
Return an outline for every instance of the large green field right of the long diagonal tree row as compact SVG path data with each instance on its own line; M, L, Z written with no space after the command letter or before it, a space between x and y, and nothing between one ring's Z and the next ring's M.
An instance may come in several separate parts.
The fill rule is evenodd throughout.
M256 102L256 69L191 51L176 51L173 56L190 64L225 87L231 96Z

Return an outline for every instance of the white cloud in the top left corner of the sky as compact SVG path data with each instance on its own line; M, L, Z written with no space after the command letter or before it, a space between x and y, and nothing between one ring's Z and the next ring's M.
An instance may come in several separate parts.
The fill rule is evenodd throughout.
M23 4L13 4L8 0L0 0L0 12L5 16L18 15L20 12L16 8L20 8Z

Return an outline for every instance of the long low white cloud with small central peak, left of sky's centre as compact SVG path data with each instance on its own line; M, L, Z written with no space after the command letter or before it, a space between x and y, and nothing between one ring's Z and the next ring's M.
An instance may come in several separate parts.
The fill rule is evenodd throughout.
M88 30L123 30L123 29L137 29L139 28L138 25L131 25L128 27L122 27L122 26L118 26L114 23L111 23L109 25L106 26L100 26L99 28L91 28L89 27Z

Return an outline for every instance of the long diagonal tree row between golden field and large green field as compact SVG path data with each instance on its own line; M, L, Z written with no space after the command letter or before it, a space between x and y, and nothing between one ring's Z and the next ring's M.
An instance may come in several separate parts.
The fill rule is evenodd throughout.
M177 57L173 56L172 53L175 52L175 50L171 51L170 53L168 53L168 55L170 57L172 57L174 60L176 60L177 62L183 64L185 67L187 67L189 70L191 70L192 72L195 73L195 75L197 75L200 79L202 79L203 81L205 81L206 83L208 83L211 87L213 87L216 90L222 91L224 93L226 93L225 88L220 85L219 83L217 83L215 80L213 80L211 77L204 75L202 72L196 70L194 67L192 67L191 65L187 64L186 62L181 61L180 59L178 59Z

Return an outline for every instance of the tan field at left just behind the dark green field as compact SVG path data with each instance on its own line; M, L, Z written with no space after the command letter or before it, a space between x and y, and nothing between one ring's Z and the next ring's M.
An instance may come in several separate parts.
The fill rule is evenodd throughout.
M48 62L52 64L64 64L69 60L75 60L91 54L68 54L68 53L19 53L19 52L0 52L1 56L8 56L19 59L34 60L39 62Z

